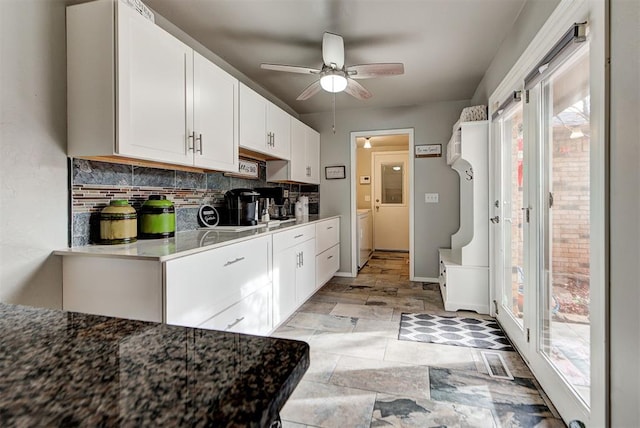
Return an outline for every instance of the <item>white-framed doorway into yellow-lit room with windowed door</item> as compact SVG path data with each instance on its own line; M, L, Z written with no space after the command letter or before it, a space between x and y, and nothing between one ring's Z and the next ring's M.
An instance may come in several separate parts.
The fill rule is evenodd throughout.
M351 133L351 273L354 277L362 260L359 224L368 212L372 223L371 249L408 252L409 276L414 279L413 163L409 157L413 145L413 129Z

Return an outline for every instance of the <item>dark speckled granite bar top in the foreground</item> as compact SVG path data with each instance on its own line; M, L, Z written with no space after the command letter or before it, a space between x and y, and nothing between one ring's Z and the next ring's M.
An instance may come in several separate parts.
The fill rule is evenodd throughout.
M0 426L263 427L304 342L0 303Z

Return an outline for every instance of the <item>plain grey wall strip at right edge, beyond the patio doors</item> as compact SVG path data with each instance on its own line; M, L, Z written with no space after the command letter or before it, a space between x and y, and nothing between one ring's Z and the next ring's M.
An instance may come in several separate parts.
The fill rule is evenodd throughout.
M611 1L611 426L640 426L640 2Z

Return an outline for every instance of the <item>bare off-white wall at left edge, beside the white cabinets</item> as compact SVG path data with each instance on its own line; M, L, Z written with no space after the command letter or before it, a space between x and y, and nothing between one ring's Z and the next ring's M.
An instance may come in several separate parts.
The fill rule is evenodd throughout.
M67 246L65 9L0 0L0 301L60 308Z

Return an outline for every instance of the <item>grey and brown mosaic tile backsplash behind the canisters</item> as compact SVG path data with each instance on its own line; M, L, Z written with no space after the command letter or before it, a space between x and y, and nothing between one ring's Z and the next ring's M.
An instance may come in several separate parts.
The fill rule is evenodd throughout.
M309 197L309 213L317 214L319 192L316 185L280 184L266 181L266 164L259 161L258 179L225 175L221 172L188 172L148 168L110 162L71 159L71 247L97 242L99 213L113 199L126 199L139 209L149 195L165 195L176 208L176 231L197 229L198 207L219 204L224 193L235 188L282 186L295 201Z

